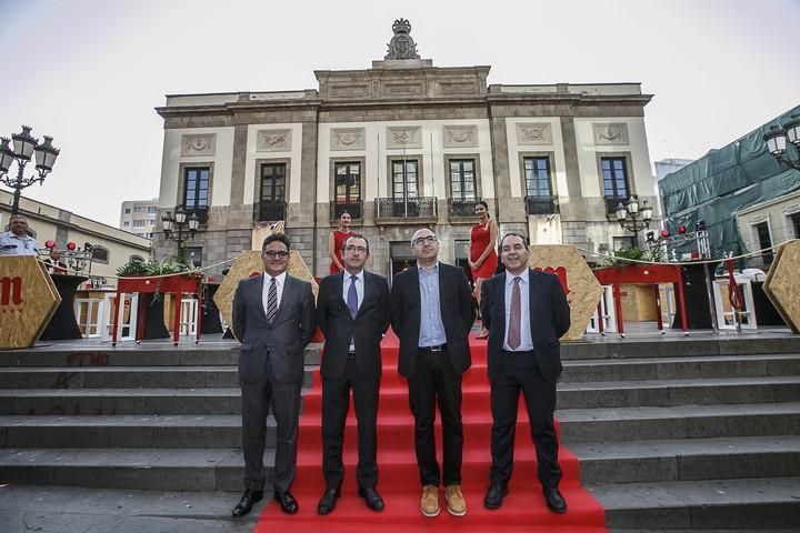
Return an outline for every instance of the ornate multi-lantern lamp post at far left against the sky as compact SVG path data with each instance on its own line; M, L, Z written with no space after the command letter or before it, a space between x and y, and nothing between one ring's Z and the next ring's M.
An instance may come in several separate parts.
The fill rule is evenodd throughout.
M10 139L0 137L0 182L14 190L11 214L19 212L20 191L37 181L41 184L56 164L56 158L59 154L59 150L52 145L52 137L44 135L44 142L39 143L39 139L34 139L30 132L31 127L23 125L20 133L11 135L13 149L9 144ZM36 170L39 175L26 178L24 168L30 162L33 152L36 152ZM8 171L14 160L18 168L17 178L11 178Z

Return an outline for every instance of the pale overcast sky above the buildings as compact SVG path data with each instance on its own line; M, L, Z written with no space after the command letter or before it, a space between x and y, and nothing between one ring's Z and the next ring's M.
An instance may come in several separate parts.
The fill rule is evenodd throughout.
M23 195L118 225L158 195L164 94L316 89L382 59L401 17L422 58L489 83L641 82L651 161L800 103L800 0L0 0L0 135L61 149Z

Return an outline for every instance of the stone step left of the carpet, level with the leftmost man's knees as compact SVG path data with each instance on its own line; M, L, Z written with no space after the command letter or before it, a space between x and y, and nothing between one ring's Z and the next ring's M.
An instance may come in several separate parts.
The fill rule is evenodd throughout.
M0 447L238 447L241 416L0 416ZM272 415L267 445L274 445Z

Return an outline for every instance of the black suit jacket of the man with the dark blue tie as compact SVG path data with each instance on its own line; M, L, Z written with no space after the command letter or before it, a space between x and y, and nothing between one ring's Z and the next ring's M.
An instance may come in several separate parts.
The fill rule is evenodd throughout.
M320 373L327 379L341 378L350 339L354 339L359 376L377 379L381 374L380 342L389 329L389 282L364 270L363 301L353 319L342 299L344 274L347 271L323 278L317 295L317 321L326 336Z

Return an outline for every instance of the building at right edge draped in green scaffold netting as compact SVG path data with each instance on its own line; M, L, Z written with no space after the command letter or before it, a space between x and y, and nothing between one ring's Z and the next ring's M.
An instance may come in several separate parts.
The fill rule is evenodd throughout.
M772 247L800 238L800 170L779 162L764 135L798 114L800 105L661 180L669 230L701 223L713 258L763 250L747 265L768 269ZM787 144L787 155L797 159L797 148Z

